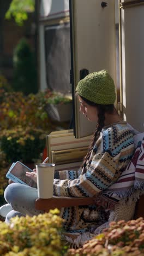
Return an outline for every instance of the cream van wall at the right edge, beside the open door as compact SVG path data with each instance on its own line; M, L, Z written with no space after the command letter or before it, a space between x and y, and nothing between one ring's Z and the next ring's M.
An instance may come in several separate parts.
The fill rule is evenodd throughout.
M144 5L122 10L122 102L124 119L144 127Z

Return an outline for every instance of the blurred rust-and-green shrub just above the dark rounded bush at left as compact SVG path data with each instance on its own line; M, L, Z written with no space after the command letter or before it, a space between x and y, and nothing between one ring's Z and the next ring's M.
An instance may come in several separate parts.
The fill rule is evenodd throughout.
M47 94L46 94L47 95ZM35 127L49 133L51 123L45 112L45 93L29 94L22 92L5 92L0 108L1 129L12 129L15 126Z

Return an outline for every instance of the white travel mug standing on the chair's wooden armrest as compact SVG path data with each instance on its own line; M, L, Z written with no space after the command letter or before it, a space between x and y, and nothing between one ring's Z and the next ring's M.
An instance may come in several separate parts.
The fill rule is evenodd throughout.
M55 173L55 164L38 164L37 185L38 197L47 199L53 196L53 179Z

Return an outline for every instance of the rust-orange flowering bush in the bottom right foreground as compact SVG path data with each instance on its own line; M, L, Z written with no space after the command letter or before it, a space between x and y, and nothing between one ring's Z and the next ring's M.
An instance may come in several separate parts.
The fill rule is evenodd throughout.
M144 220L111 222L103 234L89 240L79 249L70 249L76 256L135 256L144 255Z

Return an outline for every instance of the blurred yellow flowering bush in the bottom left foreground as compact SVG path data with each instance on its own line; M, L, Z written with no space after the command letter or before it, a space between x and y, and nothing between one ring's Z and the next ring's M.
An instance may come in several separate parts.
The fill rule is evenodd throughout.
M0 255L64 255L64 220L58 213L55 209L39 216L14 217L10 224L0 222Z

